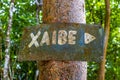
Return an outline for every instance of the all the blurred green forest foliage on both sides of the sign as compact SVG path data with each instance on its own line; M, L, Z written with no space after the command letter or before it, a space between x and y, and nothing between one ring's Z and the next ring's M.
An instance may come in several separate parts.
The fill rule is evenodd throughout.
M0 73L4 66L5 37L8 26L10 0L0 0L0 27L2 27L2 57ZM106 80L120 80L120 1L111 0L110 37L107 50ZM40 17L42 14L40 14ZM86 0L86 21L88 24L104 26L104 0ZM36 25L36 5L34 0L16 0L11 33L11 74L14 80L34 80L36 62L18 62L20 37L24 27ZM1 44L1 43L0 43ZM88 63L88 80L96 80L99 65ZM1 76L1 75L0 75ZM1 77L0 77L1 78Z

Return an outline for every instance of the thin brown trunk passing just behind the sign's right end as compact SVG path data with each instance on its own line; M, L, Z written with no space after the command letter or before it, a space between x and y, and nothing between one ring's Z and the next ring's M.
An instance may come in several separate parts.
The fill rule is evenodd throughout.
M98 80L105 80L105 62L106 62L106 54L107 54L107 45L108 45L108 38L109 38L109 31L110 31L110 1L105 0L106 3L106 16L105 16L105 37L104 37L104 55L103 60L100 63L100 70L99 70L99 79Z

